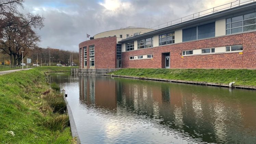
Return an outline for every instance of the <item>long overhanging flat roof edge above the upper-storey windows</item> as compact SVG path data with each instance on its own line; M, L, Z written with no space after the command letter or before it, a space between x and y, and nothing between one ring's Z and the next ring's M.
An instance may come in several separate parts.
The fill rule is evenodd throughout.
M123 39L123 40L118 41L118 42L119 43L129 42L129 41L132 41L132 40L145 38L145 37L160 34L160 33L166 32L166 31L171 31L171 30L178 29L178 28L181 28L181 27L186 27L186 26L189 26L189 25L197 24L197 23L204 22L204 21L209 21L209 20L219 18L219 17L222 17L222 16L227 16L227 15L231 15L231 14L234 14L234 13L246 11L246 10L249 10L249 9L255 9L255 8L256 8L256 2L252 2L252 3L236 6L234 8L230 8L230 9L227 9L227 10L215 12L213 14L202 16L202 17L199 17L199 18L195 18L195 19L192 19L192 20L189 20L189 21L185 21L185 22L182 22L182 23L179 23L179 24L176 24L176 25L171 25L171 26L164 27L164 28L161 28L161 29L146 32L144 34L141 34L141 35L138 35L138 36L133 36L133 37L127 38L127 39Z

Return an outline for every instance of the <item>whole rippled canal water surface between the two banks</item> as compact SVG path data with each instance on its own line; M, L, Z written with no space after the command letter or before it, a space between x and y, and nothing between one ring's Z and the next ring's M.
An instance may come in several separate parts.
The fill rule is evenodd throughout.
M256 143L256 91L54 74L81 143Z

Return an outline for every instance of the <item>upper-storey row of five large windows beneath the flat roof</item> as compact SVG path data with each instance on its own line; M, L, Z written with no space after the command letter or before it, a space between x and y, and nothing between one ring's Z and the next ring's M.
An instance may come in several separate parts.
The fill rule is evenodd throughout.
M256 12L226 19L226 35L256 30ZM215 37L215 22L182 29L182 41ZM175 43L175 33L159 35L159 45ZM138 40L138 49L153 47L153 37ZM126 51L134 50L134 42L126 43Z

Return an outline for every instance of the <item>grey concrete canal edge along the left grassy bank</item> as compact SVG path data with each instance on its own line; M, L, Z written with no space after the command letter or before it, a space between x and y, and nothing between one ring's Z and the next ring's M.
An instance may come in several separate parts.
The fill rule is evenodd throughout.
M66 106L67 106L67 113L68 113L68 117L69 117L69 123L70 123L70 128L71 128L71 133L72 133L72 137L76 139L76 142L77 144L81 144L80 142L80 138L79 138L79 135L78 135L78 132L77 132L77 129L76 129L76 124L75 124L75 120L74 120L74 117L73 117L73 114L72 114L72 111L71 111L71 108L67 102L67 99L65 97L65 90L62 90L62 93L63 93L63 99L66 103Z

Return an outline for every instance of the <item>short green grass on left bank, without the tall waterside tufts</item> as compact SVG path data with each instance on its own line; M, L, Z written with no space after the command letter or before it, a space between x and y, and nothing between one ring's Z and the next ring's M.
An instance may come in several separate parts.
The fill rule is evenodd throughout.
M63 132L40 126L44 118L41 95L49 90L43 71L70 67L42 67L0 76L0 143L71 143L70 128ZM13 131L15 136L7 133Z

